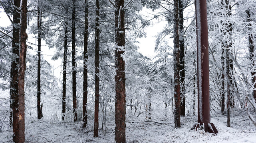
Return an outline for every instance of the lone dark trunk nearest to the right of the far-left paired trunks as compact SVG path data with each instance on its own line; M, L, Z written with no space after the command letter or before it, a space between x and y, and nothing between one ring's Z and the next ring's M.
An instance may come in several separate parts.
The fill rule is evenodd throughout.
M41 35L42 35L42 12L38 7L37 12L37 26L38 26L38 68L37 68L37 118L41 119L43 117L42 110L40 108L41 102Z

